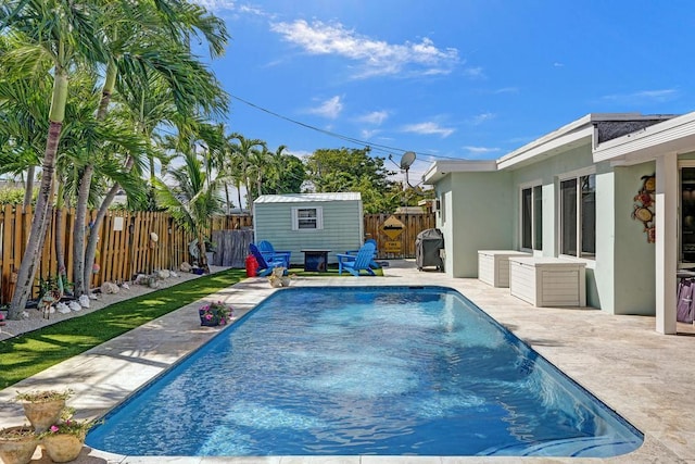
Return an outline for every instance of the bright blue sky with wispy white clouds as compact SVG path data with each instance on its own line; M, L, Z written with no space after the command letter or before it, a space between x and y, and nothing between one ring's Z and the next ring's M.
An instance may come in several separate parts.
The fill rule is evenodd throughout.
M232 37L212 63L228 131L296 155L414 151L410 184L587 113L695 110L687 0L194 1Z

